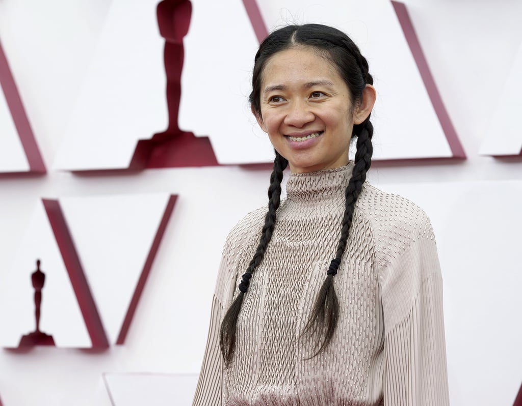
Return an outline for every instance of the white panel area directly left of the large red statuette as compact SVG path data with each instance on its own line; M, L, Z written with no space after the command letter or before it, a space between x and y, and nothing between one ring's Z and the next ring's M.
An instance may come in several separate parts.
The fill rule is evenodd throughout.
M139 139L167 128L163 44L156 0L113 0L56 169L116 169L131 162Z

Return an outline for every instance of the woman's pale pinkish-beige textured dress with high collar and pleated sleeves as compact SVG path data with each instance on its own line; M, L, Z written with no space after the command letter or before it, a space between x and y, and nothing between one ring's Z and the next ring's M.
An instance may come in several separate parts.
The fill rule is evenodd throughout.
M326 351L299 339L334 258L352 165L291 175L274 234L238 319L224 367L222 316L238 294L266 208L230 232L213 297L194 405L444 406L448 401L442 280L430 221L365 183L334 277L337 330Z

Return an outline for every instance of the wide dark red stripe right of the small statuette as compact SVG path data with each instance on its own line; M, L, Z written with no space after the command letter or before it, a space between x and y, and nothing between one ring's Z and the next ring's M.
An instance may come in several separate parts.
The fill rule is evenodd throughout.
M74 241L70 235L60 203L57 200L49 199L42 199L42 202L49 218L49 223L51 223L54 238L62 254L65 268L69 274L70 282L73 285L81 314L84 317L85 325L92 341L92 347L107 348L109 347L109 340L105 335L100 314L76 253Z

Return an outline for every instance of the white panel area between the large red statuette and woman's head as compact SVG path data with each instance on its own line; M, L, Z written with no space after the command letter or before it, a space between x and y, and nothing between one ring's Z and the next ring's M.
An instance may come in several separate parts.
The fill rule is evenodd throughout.
M243 2L192 5L183 40L180 128L209 137L221 164L274 161L274 148L248 105L259 43Z

